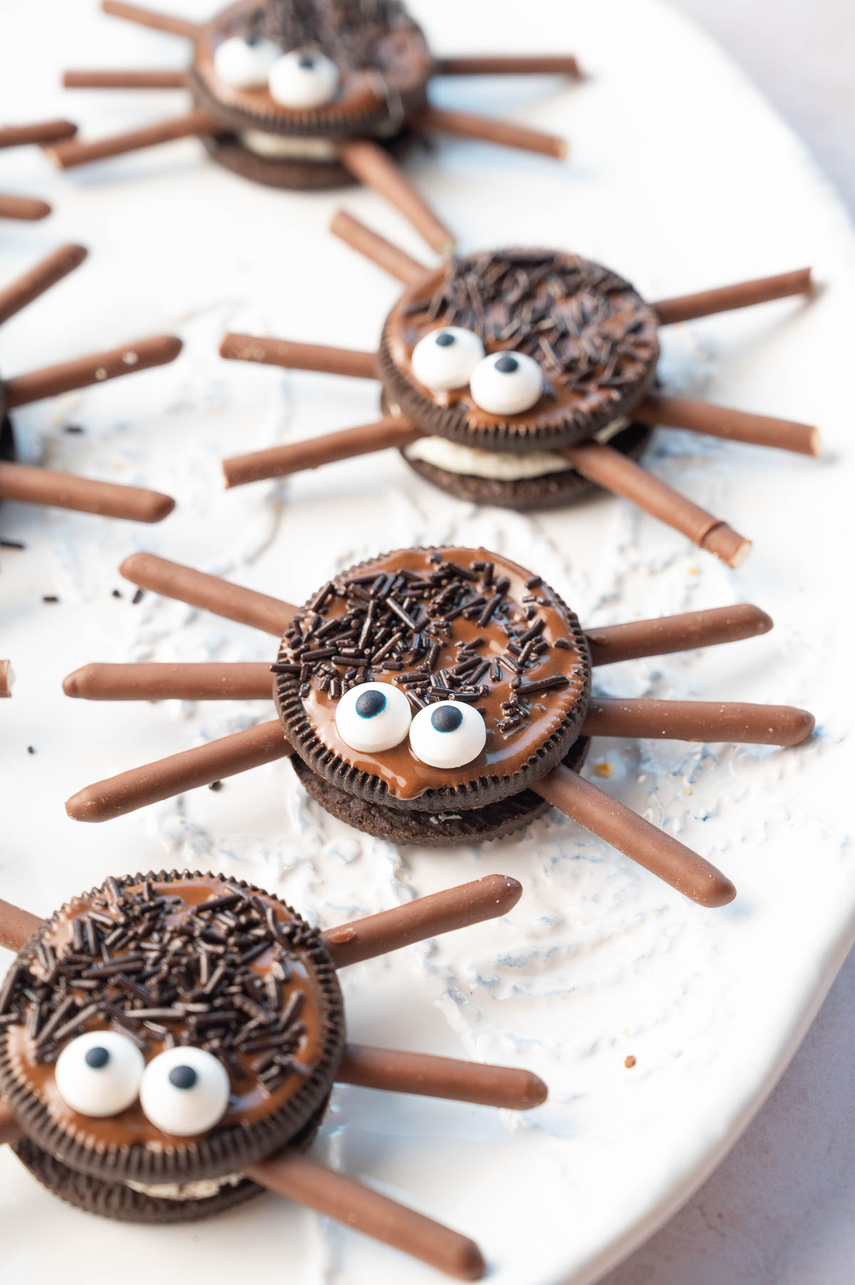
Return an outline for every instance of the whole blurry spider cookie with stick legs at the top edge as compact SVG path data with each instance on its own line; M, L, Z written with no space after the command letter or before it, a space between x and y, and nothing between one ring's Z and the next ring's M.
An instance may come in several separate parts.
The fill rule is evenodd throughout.
M198 137L220 164L276 188L361 182L379 191L438 251L449 229L396 158L414 137L450 134L562 159L566 143L512 122L432 108L441 76L579 76L575 58L435 59L400 0L239 0L210 22L105 0L108 13L192 42L184 71L68 72L67 87L186 89L174 120L95 143L58 143L63 168Z

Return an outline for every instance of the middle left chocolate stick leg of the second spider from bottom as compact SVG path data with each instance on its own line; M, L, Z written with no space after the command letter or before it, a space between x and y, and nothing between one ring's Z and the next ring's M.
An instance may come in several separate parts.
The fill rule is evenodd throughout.
M273 673L264 660L85 664L62 689L84 700L271 700Z

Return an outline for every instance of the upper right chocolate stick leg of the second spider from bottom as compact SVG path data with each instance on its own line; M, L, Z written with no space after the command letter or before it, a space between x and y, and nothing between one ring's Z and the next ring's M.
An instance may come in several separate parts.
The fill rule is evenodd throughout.
M638 660L644 655L669 655L698 646L717 646L741 639L768 634L770 616L751 603L734 607L710 607L680 616L661 616L653 621L627 621L626 625L604 625L586 630L593 664L615 664Z

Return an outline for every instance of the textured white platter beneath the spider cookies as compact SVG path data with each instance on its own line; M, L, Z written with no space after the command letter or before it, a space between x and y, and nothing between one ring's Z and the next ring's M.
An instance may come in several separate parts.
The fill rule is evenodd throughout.
M189 14L207 6L185 3ZM507 920L363 965L346 978L355 1038L494 1061L549 1083L527 1117L338 1091L319 1153L476 1236L495 1285L585 1285L648 1236L710 1172L797 1046L855 935L842 640L852 475L855 270L843 213L800 144L733 67L658 0L422 0L437 51L572 49L591 72L546 82L447 85L447 102L516 112L567 132L566 167L477 144L442 144L414 175L464 249L567 245L613 265L648 297L814 262L833 284L667 334L672 387L723 405L816 421L810 461L671 434L663 478L753 536L738 573L617 501L527 519L453 502L395 455L222 493L217 461L289 434L360 423L355 382L224 364L221 333L257 329L369 346L392 283L325 233L337 195L242 184L181 143L50 176L8 153L4 185L58 203L4 229L0 278L67 239L89 263L3 333L13 373L177 329L170 368L22 412L24 454L55 468L171 491L179 510L139 528L6 506L0 654L18 686L0 708L0 893L33 911L109 871L176 865L255 879L324 924L500 870L525 896ZM59 111L90 134L181 111L181 95L55 90L63 66L177 66L179 41L100 17L94 4L6 0L21 118ZM9 82L9 77L12 84ZM351 209L418 254L368 193ZM68 423L85 425L69 436ZM270 640L161 601L136 607L116 567L152 549L302 600L333 567L418 541L482 542L544 574L588 625L753 600L766 637L600 671L603 690L788 702L819 731L797 752L606 743L616 797L723 866L739 897L703 911L557 815L522 839L447 853L397 852L309 803L287 763L107 826L67 820L86 781L269 717L267 707L75 704L66 672L91 660L262 659ZM121 598L112 591L120 590ZM46 605L45 594L58 604ZM31 745L35 754L27 753ZM591 767L589 767L589 771ZM5 962L5 960L4 960ZM626 1069L627 1055L636 1065ZM94 1222L0 1155L9 1279L126 1285L153 1277L291 1285L437 1280L315 1216L264 1198L180 1228ZM50 1235L45 1236L45 1228Z

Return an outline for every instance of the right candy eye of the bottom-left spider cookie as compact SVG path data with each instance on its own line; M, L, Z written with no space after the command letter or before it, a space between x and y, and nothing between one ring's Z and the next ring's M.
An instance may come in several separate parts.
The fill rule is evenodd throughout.
M204 1049L167 1049L145 1068L140 1105L147 1119L165 1133L206 1133L225 1115L229 1076Z

